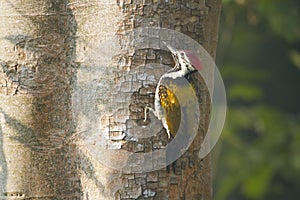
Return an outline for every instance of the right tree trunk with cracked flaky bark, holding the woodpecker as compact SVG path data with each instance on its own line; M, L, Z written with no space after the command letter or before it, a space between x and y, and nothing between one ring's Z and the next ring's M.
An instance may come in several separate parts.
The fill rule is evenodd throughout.
M193 38L215 58L220 1L102 0L72 6L80 63L75 95L81 133L77 144L89 166L83 166L85 198L211 199L210 158L197 157L210 117L209 95L201 77L195 78L203 114L199 133L177 161L175 173L158 167L163 155L153 159L156 150L167 144L166 133L153 125L161 124L154 123L153 116L151 123L143 122L143 109L153 105L156 83L169 69L161 64L172 65L161 41L176 44L176 38L166 29Z

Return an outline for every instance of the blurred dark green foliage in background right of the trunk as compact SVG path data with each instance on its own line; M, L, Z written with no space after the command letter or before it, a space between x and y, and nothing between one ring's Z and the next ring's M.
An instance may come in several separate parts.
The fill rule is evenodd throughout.
M300 1L223 0L214 200L300 199Z

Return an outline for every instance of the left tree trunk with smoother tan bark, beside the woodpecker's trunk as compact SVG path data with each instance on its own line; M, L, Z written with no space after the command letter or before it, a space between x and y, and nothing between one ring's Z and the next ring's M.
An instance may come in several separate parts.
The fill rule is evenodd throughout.
M80 199L67 1L0 1L1 199Z

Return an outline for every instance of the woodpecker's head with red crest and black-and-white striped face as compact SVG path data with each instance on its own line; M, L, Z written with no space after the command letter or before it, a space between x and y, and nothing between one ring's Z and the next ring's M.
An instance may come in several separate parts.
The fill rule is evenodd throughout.
M178 50L168 44L165 44L171 51L173 59L175 61L176 70L186 70L187 72L193 72L201 70L203 68L202 62L198 56L188 50Z

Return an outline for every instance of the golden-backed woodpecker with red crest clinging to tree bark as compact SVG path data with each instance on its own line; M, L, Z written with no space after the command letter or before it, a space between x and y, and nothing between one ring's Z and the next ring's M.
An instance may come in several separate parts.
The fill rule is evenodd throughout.
M164 43L165 44L165 43ZM191 51L187 50L177 50L176 48L167 45L170 50L175 65L165 74L163 74L156 86L155 96L154 96L154 109L146 106L144 109L144 121L147 120L147 111L151 111L159 120L161 120L163 127L165 128L170 141L175 137L181 122L181 109L184 109L185 105L181 105L176 98L175 93L183 94L185 91L184 85L178 85L180 79L188 80L190 75L198 70L202 69L202 63L199 57L193 54ZM170 84L175 84L175 87L170 89ZM174 89L175 88L175 89ZM177 91L174 91L177 90ZM188 99L187 97L185 97ZM182 102L181 102L182 103ZM188 100L186 103L188 104ZM169 149L170 154L175 154L175 149ZM168 150L167 150L168 154ZM167 155L168 156L168 155ZM168 157L167 157L168 161ZM167 162L168 163L168 162ZM172 164L173 171L174 162ZM169 167L169 166L168 166ZM167 170L169 172L169 168Z

